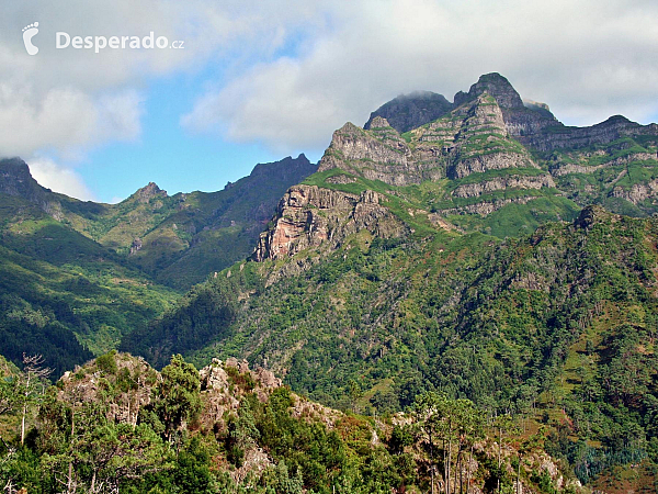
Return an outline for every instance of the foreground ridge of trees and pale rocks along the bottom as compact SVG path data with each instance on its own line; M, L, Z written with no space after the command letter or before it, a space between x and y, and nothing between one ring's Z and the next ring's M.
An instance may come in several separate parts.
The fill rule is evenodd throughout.
M57 385L38 358L2 369L8 493L581 492L545 450L560 440L551 427L445 393L367 417L236 359L197 371L174 356L158 372L113 351Z

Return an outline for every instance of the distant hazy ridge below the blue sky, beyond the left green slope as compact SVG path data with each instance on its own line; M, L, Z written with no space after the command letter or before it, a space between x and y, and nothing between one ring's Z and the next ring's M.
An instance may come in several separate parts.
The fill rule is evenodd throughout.
M18 198L179 290L245 258L285 190L316 170L306 156L260 164L218 192L178 193L156 183L118 204L82 202L41 187L25 162L0 161L0 207Z

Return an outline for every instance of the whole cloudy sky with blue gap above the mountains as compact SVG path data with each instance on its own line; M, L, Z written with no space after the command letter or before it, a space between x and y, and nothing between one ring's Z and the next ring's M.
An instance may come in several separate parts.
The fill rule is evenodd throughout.
M566 124L646 124L657 20L655 0L0 0L0 157L81 200L214 191L491 71Z

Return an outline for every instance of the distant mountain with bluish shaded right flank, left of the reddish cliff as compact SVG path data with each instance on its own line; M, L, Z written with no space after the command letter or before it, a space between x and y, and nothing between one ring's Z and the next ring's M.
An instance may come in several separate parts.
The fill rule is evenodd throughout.
M184 290L247 257L281 195L315 170L299 155L257 165L218 192L169 197L150 183L111 206L93 237L158 282Z

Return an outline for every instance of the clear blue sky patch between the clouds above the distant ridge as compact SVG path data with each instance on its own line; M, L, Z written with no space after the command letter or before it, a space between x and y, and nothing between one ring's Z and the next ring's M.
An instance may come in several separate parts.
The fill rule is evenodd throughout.
M91 190L102 201L114 202L155 181L179 191L220 190L228 180L249 175L254 164L281 159L259 143L235 143L218 135L189 132L180 126L196 94L197 80L185 76L154 81L144 102L143 131L135 142L115 142L94 149L79 167ZM319 159L313 149L309 159Z

